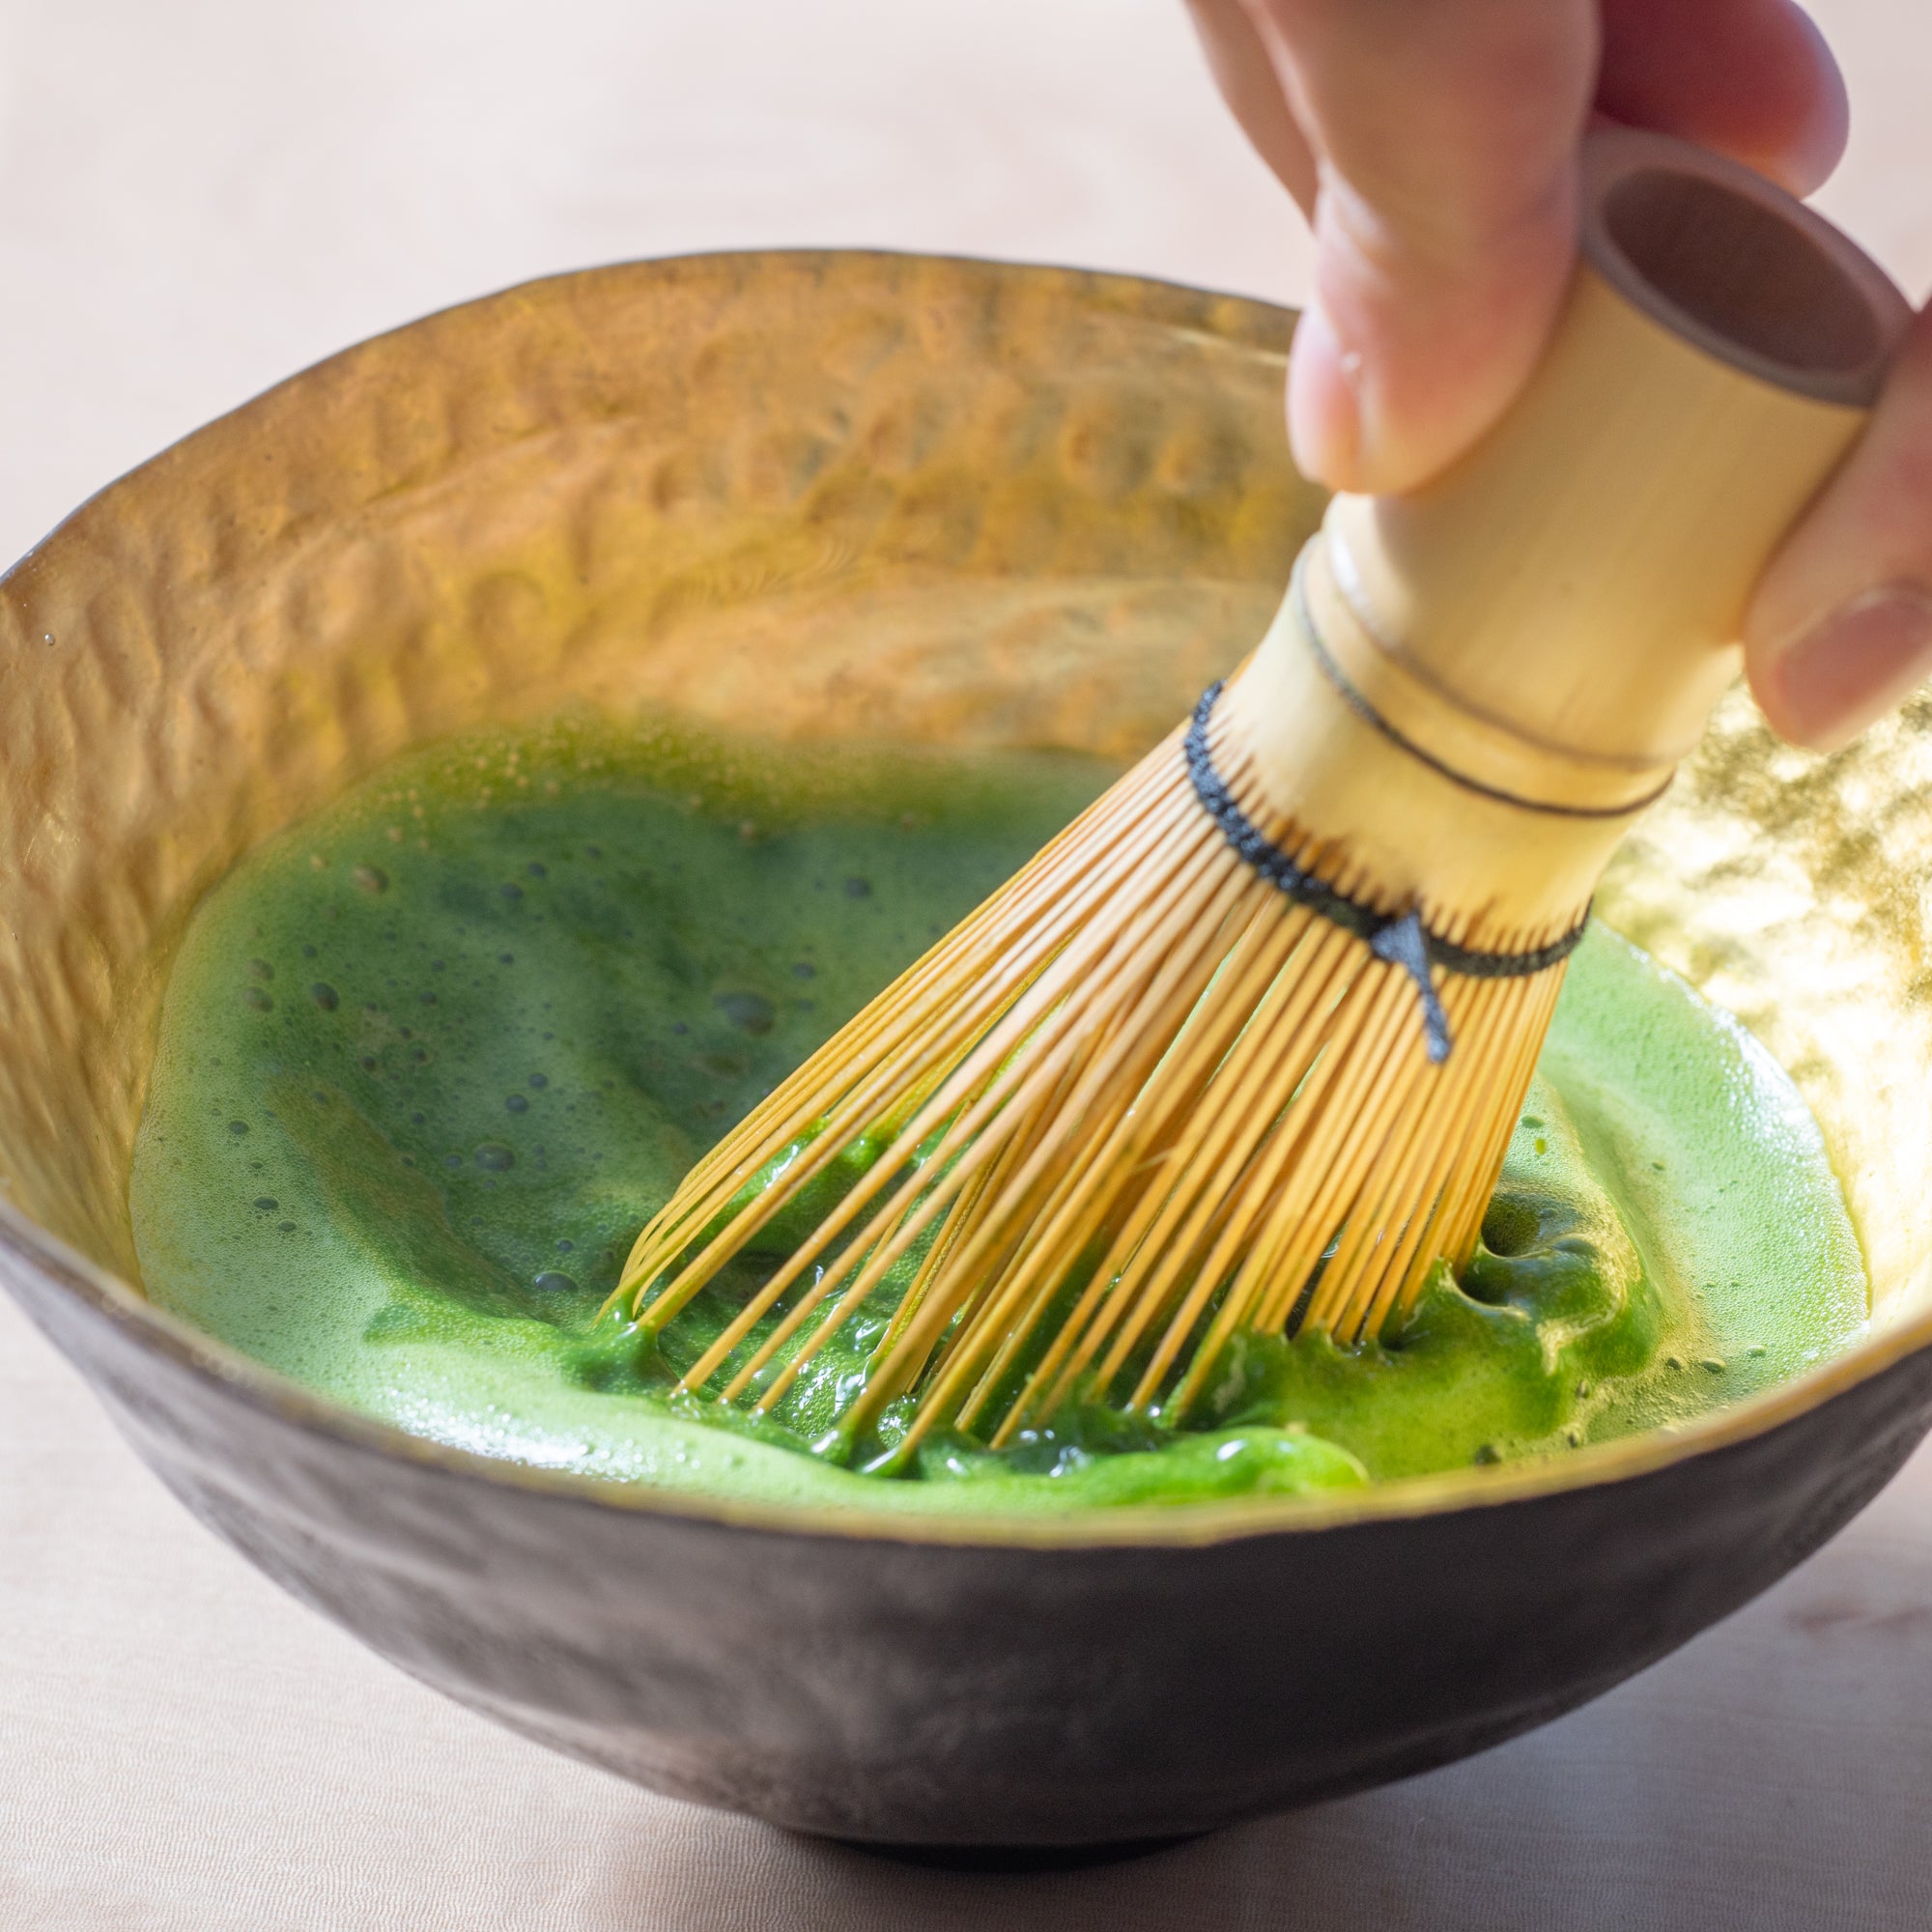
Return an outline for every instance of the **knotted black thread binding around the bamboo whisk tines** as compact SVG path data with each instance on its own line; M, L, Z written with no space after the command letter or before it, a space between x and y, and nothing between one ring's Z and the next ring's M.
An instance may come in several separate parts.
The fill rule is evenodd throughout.
M1432 933L1422 923L1420 912L1387 914L1350 898L1325 879L1304 871L1289 858L1281 846L1273 844L1262 829L1235 804L1235 794L1227 779L1215 771L1213 753L1208 750L1208 719L1213 717L1221 684L1209 684L1202 692L1202 701L1194 707L1194 723L1188 726L1184 753L1188 777L1194 781L1194 796L1202 802L1208 817L1221 827L1221 835L1269 885L1285 893L1298 906L1320 912L1323 920L1354 933L1370 952L1391 966L1401 966L1416 983L1422 1001L1422 1039L1435 1065L1449 1059L1449 1014L1435 993L1432 966L1443 972L1463 974L1466 980L1528 980L1532 974L1548 972L1567 960L1582 943L1590 914L1584 916L1561 939L1551 939L1548 947L1530 952L1476 952L1459 947L1441 933Z

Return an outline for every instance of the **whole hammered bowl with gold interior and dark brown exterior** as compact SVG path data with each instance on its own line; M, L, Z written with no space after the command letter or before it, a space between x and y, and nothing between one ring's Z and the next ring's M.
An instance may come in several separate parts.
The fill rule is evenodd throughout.
M1329 1501L1039 1519L670 1501L342 1412L151 1308L168 958L249 846L560 703L1130 757L1320 510L1291 317L875 255L564 276L384 336L4 582L0 1273L187 1507L412 1675L628 1777L875 1843L1196 1832L1478 1750L1843 1524L1932 1420L1932 730L1737 699L1604 918L1808 1095L1870 1339L1677 1435Z

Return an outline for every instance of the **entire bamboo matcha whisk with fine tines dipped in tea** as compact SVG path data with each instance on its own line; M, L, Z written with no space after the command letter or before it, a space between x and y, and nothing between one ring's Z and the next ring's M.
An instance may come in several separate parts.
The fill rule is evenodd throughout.
M827 1451L889 1408L896 1457L1068 1401L1179 1422L1244 1331L1374 1337L1464 1264L1598 875L1905 321L1745 168L1592 135L1501 425L1337 497L1227 686L643 1231L616 1293L647 1335L788 1250L682 1387L769 1412L896 1291Z

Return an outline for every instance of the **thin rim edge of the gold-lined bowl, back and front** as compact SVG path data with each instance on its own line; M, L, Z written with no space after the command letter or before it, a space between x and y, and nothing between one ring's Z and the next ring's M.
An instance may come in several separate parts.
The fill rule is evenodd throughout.
M568 269L508 284L483 296L446 303L392 328L377 330L348 344L303 369L245 398L232 410L211 417L164 448L153 452L131 469L93 491L70 510L17 562L0 574L0 585L19 570L31 568L39 553L58 533L110 497L124 481L193 442L226 417L251 408L263 396L301 383L390 336L408 334L439 317L473 311L527 296L531 290L578 282L612 270L678 269L724 261L827 261L827 259L900 259L910 263L991 269L1020 278L1074 276L1092 284L1115 284L1155 296L1186 296L1196 301L1229 303L1246 309L1256 323L1279 325L1291 330L1296 311L1256 296L1202 288L1161 276L1128 274L1107 269L1078 269L1059 263L1009 261L997 255L949 255L922 249L881 247L773 247L773 249L694 249L674 255L638 257ZM1196 327L1200 327L1196 323ZM1217 330L1223 332L1223 330ZM1225 330L1238 340L1235 330ZM1250 340L1256 354L1267 350ZM1747 1397L1723 1408L1710 1410L1690 1422L1663 1424L1634 1435L1592 1443L1561 1457L1528 1457L1493 1466L1439 1470L1428 1476L1405 1476L1368 1484L1360 1490L1318 1495L1273 1495L1227 1499L1186 1505L1121 1505L1109 1509L1074 1509L1065 1515L1018 1513L987 1507L985 1511L922 1513L916 1509L875 1509L864 1503L765 1503L748 1497L709 1495L699 1490L661 1490L647 1482L614 1482L578 1476L566 1470L514 1463L506 1457L485 1457L429 1435L413 1435L390 1422L348 1408L299 1381L230 1349L213 1335L195 1329L168 1310L151 1302L133 1283L112 1267L62 1240L33 1221L4 1192L0 1177L0 1260L25 1269L44 1287L70 1294L97 1321L106 1321L129 1335L149 1354L168 1360L191 1378L218 1385L222 1393L240 1399L257 1414L301 1430L313 1437L336 1441L346 1449L377 1455L439 1470L458 1480L508 1488L529 1495L549 1495L560 1503L611 1509L638 1517L667 1517L694 1524L759 1530L765 1534L825 1538L838 1536L862 1542L1012 1548L1012 1549L1163 1549L1208 1544L1242 1542L1258 1536L1310 1534L1354 1524L1393 1522L1412 1517L1453 1515L1464 1509L1492 1509L1519 1501L1590 1490L1634 1476L1689 1463L1737 1443L1752 1441L1824 1406L1849 1389L1884 1374L1895 1362L1932 1345L1932 1306L1911 1320L1868 1325L1853 1347L1820 1362L1801 1376L1772 1389ZM1855 1225L1857 1233L1857 1225ZM1862 1240L1861 1240L1862 1248ZM19 1296L17 1296L19 1298ZM1870 1323L1868 1316L1868 1323ZM56 1343L58 1347L58 1343Z

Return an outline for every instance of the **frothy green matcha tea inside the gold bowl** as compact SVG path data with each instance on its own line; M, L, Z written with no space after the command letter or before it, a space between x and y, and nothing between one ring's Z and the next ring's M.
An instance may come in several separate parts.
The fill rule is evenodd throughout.
M1068 1410L887 1480L813 1453L889 1298L769 1418L601 1312L690 1163L1113 777L558 724L404 761L253 854L168 987L131 1209L156 1302L483 1455L782 1503L1066 1509L1350 1488L1673 1426L1862 1333L1768 1055L1613 933L1571 962L1464 1279L1383 1343L1250 1339L1186 1430ZM898 1424L902 1426L902 1422ZM889 1447L889 1434L887 1434Z

